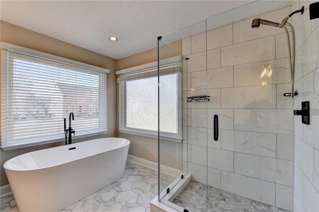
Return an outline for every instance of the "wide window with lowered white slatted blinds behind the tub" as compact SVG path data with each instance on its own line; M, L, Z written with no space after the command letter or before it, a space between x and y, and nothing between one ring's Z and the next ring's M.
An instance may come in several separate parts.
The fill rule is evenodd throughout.
M64 140L74 113L76 137L107 131L107 69L1 43L1 148Z

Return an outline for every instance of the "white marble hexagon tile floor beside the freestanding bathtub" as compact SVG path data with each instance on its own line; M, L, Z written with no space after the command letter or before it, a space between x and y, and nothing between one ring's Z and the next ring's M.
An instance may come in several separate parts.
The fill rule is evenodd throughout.
M165 187L167 175L160 175ZM149 212L158 194L158 172L127 161L123 177L60 212ZM0 212L19 212L13 195L0 199Z

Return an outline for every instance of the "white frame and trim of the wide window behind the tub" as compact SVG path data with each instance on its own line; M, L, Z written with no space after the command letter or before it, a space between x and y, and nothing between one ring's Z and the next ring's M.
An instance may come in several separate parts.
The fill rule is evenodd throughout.
M63 58L63 57L47 54L47 53L44 53L44 52L40 52L40 51L24 48L24 47L21 47L21 46L16 46L16 45L5 43L5 42L1 42L0 45L1 45L1 72L2 72L2 68L3 68L3 62L6 64L6 62L5 62L6 58L4 58L4 56L7 55L7 53L3 54L3 51L9 51L9 52L13 52L13 53L16 52L16 53L19 53L19 54L29 55L29 56L35 57L35 58L40 58L40 59L44 59L44 60L54 61L54 62L57 62L59 64L65 64L67 66L75 67L75 69L76 69L76 67L79 67L79 68L84 68L84 69L87 69L87 70L91 70L91 71L93 71L95 73L97 73L97 72L105 73L105 79L102 80L102 81L100 79L99 81L101 81L101 82L105 81L105 86L104 86L105 91L103 92L103 94L106 95L106 97L105 97L105 110L106 111L103 112L103 113L105 113L105 118L106 118L106 129L101 131L101 132L93 132L93 133L81 134L81 135L78 135L77 138L83 138L83 137L89 137L89 136L93 136L93 135L105 134L107 132L107 125L108 125L107 124L107 74L110 73L110 70L105 69L105 68L101 68L101 67L97 67L97 66L93 66L93 65L90 65L90 64L86 64L86 63L70 60L70 59L67 59L67 58ZM10 70L11 69L9 69L9 71ZM76 70L74 70L74 71L76 71ZM1 93L1 96L2 96L2 93ZM2 118L2 115L5 115L5 114L1 113L1 118ZM61 133L63 134L63 120L62 120L61 130L62 130ZM6 145L2 145L1 144L1 149L6 151L6 150L11 150L11 149L18 149L18 148L24 148L24 147L30 147L30 146L37 146L37 145L60 142L60 141L64 141L64 138L56 137L56 138L52 138L52 139L44 140L44 141L35 140L34 142L19 142L18 144L9 142Z

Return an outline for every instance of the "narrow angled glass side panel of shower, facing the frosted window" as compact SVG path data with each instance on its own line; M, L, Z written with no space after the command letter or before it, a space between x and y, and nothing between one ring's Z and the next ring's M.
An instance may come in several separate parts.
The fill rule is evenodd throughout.
M159 199L182 175L181 69L178 51L159 39ZM173 44L174 45L174 44Z

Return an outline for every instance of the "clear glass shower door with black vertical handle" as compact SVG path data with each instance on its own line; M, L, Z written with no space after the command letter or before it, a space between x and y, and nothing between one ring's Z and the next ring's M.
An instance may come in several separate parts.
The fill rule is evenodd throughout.
M257 4L263 14L249 9ZM217 115L220 135L207 141L208 211L217 206L243 210L232 204L239 199L255 211L277 211L275 206L286 207L278 204L278 192L293 186L293 162L281 157L278 148L280 142L289 146L294 130L286 110L290 107L282 105L290 102L283 97L291 86L289 60L276 58L287 40L277 39L284 33L281 28L251 28L254 18L275 21L279 15L280 21L291 7L273 10L275 5L268 4L256 1L206 19L207 89L217 91L220 104L207 109L207 129L213 128ZM237 20L230 19L233 14L238 14ZM284 72L285 79L280 77Z

